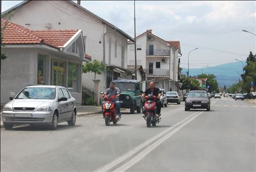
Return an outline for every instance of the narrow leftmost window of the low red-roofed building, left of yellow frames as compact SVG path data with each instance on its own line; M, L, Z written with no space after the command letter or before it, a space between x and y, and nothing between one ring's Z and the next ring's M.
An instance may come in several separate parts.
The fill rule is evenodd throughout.
M37 84L46 83L46 55L37 55Z

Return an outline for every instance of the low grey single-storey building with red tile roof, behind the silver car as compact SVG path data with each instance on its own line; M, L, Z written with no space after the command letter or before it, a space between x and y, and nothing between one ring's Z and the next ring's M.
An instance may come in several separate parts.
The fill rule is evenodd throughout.
M81 30L29 30L1 20L1 104L28 84L63 85L82 99L81 69L86 58Z

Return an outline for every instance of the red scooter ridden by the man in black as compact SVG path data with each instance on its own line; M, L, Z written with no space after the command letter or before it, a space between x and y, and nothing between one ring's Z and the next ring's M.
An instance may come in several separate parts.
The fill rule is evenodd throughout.
M144 93L144 92L141 91L141 93ZM151 124L153 126L156 126L156 124L161 121L160 117L159 118L156 117L156 111L157 111L156 100L157 100L157 97L154 96L153 93L145 96L145 104L142 107L142 112L145 115L147 127L151 127Z

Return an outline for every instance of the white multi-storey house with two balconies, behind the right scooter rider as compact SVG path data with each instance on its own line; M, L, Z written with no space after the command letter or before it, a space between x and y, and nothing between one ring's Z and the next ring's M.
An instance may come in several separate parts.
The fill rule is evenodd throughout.
M128 65L135 63L135 46L132 41L128 42L127 48ZM151 81L155 81L157 88L179 92L180 83L180 41L166 41L152 33L152 30L136 37L137 65L145 69L146 84L142 89L149 87ZM179 56L180 55L180 56Z

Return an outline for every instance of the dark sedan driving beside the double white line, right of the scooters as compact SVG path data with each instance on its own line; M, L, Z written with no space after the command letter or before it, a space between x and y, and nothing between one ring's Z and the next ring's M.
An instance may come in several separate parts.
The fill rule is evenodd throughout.
M210 111L210 99L206 91L190 91L185 100L185 111L206 109Z

